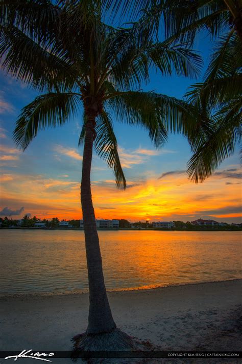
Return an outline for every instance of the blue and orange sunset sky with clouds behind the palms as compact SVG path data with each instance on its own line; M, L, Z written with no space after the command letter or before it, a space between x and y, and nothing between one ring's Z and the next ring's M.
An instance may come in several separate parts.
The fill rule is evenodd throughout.
M210 38L201 33L193 48L204 57L198 80L164 77L152 71L150 83L143 89L182 98L189 85L202 80L211 47ZM0 82L0 216L81 219L83 146L78 147L78 140L82 112L64 126L39 132L22 152L12 139L14 123L21 108L37 93L3 71ZM114 119L114 131L127 189L115 187L112 170L94 154L91 183L96 219L241 222L238 148L212 177L194 184L186 175L191 153L182 136L170 135L166 145L156 149L145 130Z

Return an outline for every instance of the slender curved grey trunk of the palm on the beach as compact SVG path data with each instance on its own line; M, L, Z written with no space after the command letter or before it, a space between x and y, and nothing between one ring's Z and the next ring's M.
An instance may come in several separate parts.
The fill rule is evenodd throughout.
M91 160L95 117L87 115L82 162L81 203L86 242L89 284L89 316L87 334L108 333L116 328L106 293L98 231L91 199Z

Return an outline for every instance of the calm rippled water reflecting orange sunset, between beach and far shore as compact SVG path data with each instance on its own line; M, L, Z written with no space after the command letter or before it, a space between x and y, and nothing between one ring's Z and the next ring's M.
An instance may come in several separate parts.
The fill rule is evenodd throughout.
M106 287L241 278L240 232L99 231ZM1 230L0 293L88 288L83 231Z

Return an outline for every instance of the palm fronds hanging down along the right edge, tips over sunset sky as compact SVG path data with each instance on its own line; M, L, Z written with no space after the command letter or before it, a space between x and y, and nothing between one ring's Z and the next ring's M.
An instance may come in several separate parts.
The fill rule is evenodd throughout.
M188 161L188 176L196 183L211 176L240 142L241 70L241 44L232 29L216 41L204 82L192 85L186 94L200 114L190 136L194 154Z

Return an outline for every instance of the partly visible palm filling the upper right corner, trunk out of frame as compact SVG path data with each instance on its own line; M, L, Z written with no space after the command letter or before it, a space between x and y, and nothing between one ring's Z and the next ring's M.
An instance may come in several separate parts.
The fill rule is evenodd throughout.
M154 31L164 23L166 41L192 46L196 34L206 30L216 39L204 82L192 85L186 93L197 109L197 126L189 135L191 151L188 177L196 183L211 176L219 164L234 153L240 142L242 110L242 2L241 0L136 0L106 2L114 11L136 16L142 7L153 20ZM115 13L115 12L114 12ZM242 152L242 149L241 149Z

